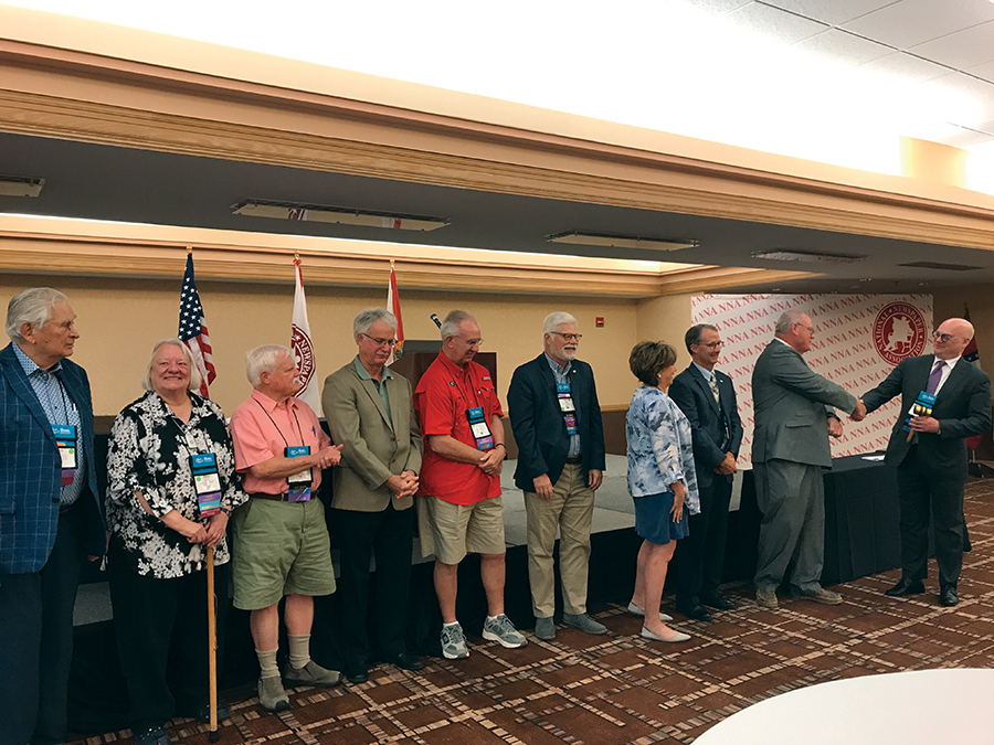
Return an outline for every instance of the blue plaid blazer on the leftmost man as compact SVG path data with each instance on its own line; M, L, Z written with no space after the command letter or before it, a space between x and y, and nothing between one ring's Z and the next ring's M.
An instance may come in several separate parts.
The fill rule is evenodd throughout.
M86 553L104 553L101 501L94 467L93 401L80 365L62 361L62 383L80 411L88 500ZM55 544L62 461L52 425L18 361L13 345L0 350L0 573L27 574L44 566Z

